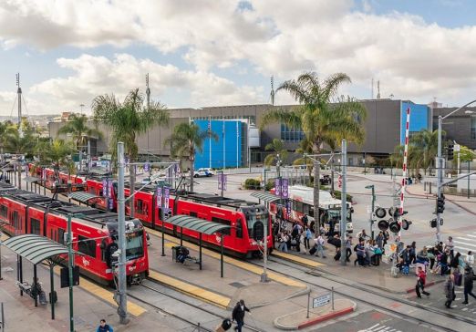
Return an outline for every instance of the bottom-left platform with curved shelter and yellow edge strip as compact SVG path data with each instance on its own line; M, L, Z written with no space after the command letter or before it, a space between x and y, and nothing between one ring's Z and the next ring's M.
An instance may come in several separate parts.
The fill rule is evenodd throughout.
M5 240L6 237L2 239ZM24 280L33 280L33 265L24 261ZM49 294L49 270L38 265L38 280L43 290ZM67 288L60 288L59 275L54 275L57 304L55 319L51 319L51 305L35 306L33 298L24 294L16 285L16 254L2 246L2 277L0 280L0 302L4 304L5 331L24 331L35 327L43 331L67 331L69 328L69 296ZM129 324L119 325L117 305L112 298L113 291L80 278L79 285L74 287L74 321L75 331L95 331L100 319L114 327L115 331L157 330L176 331L174 322L155 315L152 308L128 301Z

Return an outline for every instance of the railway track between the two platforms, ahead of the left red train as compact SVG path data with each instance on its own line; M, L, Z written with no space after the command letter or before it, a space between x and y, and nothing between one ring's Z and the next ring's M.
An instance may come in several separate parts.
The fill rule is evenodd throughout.
M149 281L151 284L154 284L154 285L160 285L160 283L154 281L153 279L150 279L148 278L147 281ZM161 285L160 285L161 286ZM154 294L158 294L160 296L166 296L168 298L171 298L172 300L175 300L177 302L180 302L180 304L183 306L187 306L189 309L191 310L195 310L195 311L198 311L200 313L204 313L206 316L208 316L208 320L210 321L210 318L213 317L214 320L216 320L216 322L214 323L215 327L216 325L219 324L219 322L221 322L223 319L225 318L230 318L231 316L231 313L230 315L228 316L224 316L222 314L219 314L219 313L216 313L216 312L213 312L212 310L210 309L207 309L203 306L200 306L200 305L196 305L196 304L193 304L191 303L190 301L184 301L181 296L174 296L174 295L171 295L167 292L164 292L162 290L160 290L158 287L155 287L155 286L151 286L151 285L144 285L144 284L141 284L140 287L143 287L143 288L146 288L148 292L153 292ZM135 299L136 301L139 301L143 304L146 304L148 306L151 306L153 307L154 309L156 309L157 311L159 311L160 313L164 314L164 315L167 315L167 316L172 316L176 319L179 319L181 320L182 322L186 323L186 324L189 324L191 327L194 327L195 329L194 330L197 330L197 331L209 331L209 332L214 332L215 331L215 328L214 327L205 327L202 325L202 323L198 323L196 321L192 321L191 318L187 318L187 317L184 317L183 315L178 315L176 313L173 313L171 312L170 309L167 309L165 307L161 307L161 306L157 306L153 303L151 303L150 301L147 301L146 299L142 298L141 296L136 296L136 295L133 295L131 294L130 292L128 292L128 296L130 296L131 298ZM212 324L209 322L209 325ZM246 330L248 331L253 331L253 332L264 332L263 330L260 330L256 327L250 327L249 325L244 325L244 327L246 328Z

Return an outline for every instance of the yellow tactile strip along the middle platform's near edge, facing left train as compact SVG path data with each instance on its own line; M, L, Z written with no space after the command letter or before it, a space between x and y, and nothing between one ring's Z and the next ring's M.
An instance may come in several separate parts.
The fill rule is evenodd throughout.
M196 285L185 283L181 280L172 278L169 275L162 275L152 270L149 271L149 277L160 282L161 284L169 285L183 293L199 297L200 299L212 303L215 306L222 306L223 308L226 308L232 300L229 297L213 293Z

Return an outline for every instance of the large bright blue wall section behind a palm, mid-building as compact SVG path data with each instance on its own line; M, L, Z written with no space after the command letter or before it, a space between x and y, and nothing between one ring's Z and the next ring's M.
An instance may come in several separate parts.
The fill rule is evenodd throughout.
M242 167L247 160L246 123L227 119L196 119L193 121L201 131L209 125L218 140L205 139L202 152L195 154L195 169L211 167L214 169ZM212 149L212 153L210 153Z

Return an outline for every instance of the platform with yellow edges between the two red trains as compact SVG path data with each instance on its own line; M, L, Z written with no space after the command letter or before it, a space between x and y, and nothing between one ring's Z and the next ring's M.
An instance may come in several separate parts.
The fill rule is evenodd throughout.
M223 257L221 277L220 254L210 249L202 248L202 270L194 262L177 263L172 260L171 248L180 240L166 235L166 255L161 256L160 237L154 231L150 235L150 280L214 306L232 309L242 298L249 307L265 306L309 292L305 284L275 273L268 274L268 283L261 283L263 267L229 256ZM197 245L186 241L183 245L191 256L198 257Z

